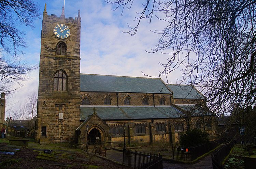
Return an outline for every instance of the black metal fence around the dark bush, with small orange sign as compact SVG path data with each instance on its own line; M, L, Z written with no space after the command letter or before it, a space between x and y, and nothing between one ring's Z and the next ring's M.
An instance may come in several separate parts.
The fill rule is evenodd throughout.
M195 147L180 147L180 146L172 146L172 154L173 159L181 160L181 161L193 161L201 155L213 150L219 144L221 144L222 140L212 141L206 144L197 145Z

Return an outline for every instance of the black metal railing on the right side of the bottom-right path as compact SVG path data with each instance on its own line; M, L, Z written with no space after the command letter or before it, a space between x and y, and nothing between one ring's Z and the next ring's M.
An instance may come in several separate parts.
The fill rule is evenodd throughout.
M218 150L212 153L212 168L223 169L222 162L225 157L229 154L230 150L234 147L235 142L230 142L226 145L221 146Z

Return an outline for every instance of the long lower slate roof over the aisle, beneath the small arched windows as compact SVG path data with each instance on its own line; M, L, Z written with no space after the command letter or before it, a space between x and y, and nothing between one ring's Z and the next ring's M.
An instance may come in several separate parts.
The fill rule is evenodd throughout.
M81 120L85 120L93 114L93 107L80 107ZM96 107L96 113L102 120L119 120L119 119L155 119L155 118L179 118L184 114L172 106L166 107Z

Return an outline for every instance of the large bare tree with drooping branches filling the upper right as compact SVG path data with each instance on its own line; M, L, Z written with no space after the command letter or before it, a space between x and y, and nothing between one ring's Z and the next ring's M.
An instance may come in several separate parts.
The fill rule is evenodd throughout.
M113 10L132 8L133 0L105 0ZM157 17L168 26L151 52L168 54L160 76L180 69L181 83L198 87L206 106L230 115L256 102L256 0L146 0L135 16L135 35L143 19ZM162 17L164 15L164 17ZM248 121L249 123L250 121ZM233 120L229 124L235 123ZM253 131L251 131L253 132Z

